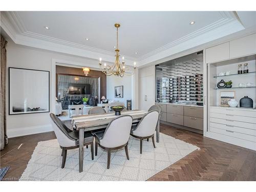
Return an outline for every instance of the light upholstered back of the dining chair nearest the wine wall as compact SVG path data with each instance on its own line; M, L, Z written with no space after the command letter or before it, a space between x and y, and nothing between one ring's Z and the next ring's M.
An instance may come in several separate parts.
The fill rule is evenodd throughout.
M155 133L159 113L157 110L150 111L140 120L138 126L133 131L133 135L139 137L151 136Z

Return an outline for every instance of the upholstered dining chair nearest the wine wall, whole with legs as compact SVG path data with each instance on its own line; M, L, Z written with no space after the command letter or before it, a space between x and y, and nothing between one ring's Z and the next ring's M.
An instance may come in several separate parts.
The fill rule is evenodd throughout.
M131 136L140 139L140 154L142 154L142 140L152 138L153 146L156 148L154 133L156 131L159 113L153 110L145 114L136 127L132 127Z

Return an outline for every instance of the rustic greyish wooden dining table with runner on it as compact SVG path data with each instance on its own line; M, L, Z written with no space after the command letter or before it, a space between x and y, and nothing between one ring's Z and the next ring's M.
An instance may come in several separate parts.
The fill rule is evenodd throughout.
M121 115L131 115L133 123L139 122L141 118L146 114L146 111L131 110L121 112ZM108 124L118 116L115 116L114 112L104 114L92 114L92 115L79 115L72 117L72 124L74 129L79 131L79 172L83 170L83 140L84 132L95 131L106 128ZM156 140L159 142L160 131L160 118L156 127Z

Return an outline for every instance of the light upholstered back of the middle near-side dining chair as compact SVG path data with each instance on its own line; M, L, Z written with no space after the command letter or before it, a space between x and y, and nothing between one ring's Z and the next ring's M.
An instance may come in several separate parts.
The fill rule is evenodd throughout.
M100 145L108 148L118 147L128 142L132 127L131 115L123 115L113 119L106 127Z

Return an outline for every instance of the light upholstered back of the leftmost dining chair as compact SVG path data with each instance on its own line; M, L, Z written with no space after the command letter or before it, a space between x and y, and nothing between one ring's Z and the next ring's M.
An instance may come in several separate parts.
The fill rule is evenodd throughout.
M53 113L50 114L50 117L59 145L62 147L74 146L76 139L68 134L71 130Z

